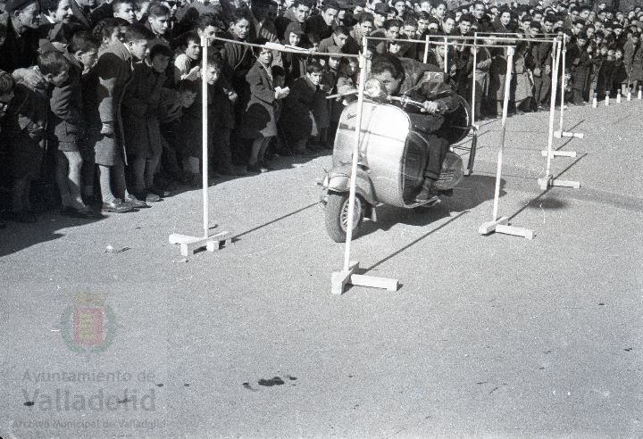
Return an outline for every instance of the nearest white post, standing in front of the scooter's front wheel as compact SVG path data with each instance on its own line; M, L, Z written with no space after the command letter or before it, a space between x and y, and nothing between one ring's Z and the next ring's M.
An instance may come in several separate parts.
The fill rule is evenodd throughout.
M366 37L363 37L362 46L366 47ZM363 112L363 90L366 81L366 55L365 51L359 57L360 75L357 87L357 112L355 114L355 142L353 143L353 162L351 166L350 188L348 192L348 219L347 239L344 249L344 267L339 271L333 271L330 275L330 288L332 294L343 294L347 284L355 286L371 286L384 288L388 291L397 291L399 282L397 279L387 277L374 277L358 275L355 272L359 269L359 262L350 260L350 247L353 239L353 221L355 219L355 192L357 181L357 164L360 155L360 140L362 138L362 112Z

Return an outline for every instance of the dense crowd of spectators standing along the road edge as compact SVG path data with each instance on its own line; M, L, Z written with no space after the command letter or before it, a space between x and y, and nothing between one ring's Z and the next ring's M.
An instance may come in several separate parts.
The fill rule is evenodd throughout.
M502 111L505 80L511 81L512 114L547 110L552 80L558 80L552 78L553 38L566 49L568 87L561 92L567 104L643 85L639 6L101 2L0 2L4 219L33 222L36 212L52 206L63 215L96 218L101 211L146 208L177 187L197 186L203 99L213 180L271 170L277 154L328 153L359 78L357 59L339 54L393 54L433 64L470 102L475 81L478 119ZM483 37L476 40L480 47L453 38L476 33ZM507 49L498 36L515 38L509 79ZM385 39L363 46L363 37ZM449 45L427 49L427 37L449 37ZM211 43L205 70L204 39ZM279 44L290 51L276 50Z

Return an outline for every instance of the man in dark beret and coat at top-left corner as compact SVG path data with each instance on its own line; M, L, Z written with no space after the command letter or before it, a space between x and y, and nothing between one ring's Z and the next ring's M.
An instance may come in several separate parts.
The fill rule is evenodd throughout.
M44 84L35 65L38 56L38 26L40 6L36 0L8 0L0 23L5 33L0 35L0 70L13 72L16 82L22 80L30 88Z

